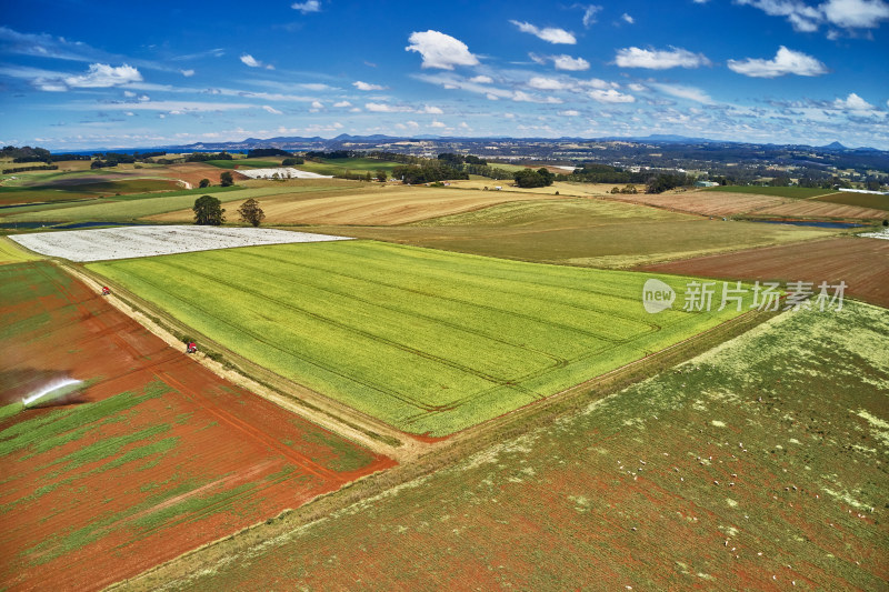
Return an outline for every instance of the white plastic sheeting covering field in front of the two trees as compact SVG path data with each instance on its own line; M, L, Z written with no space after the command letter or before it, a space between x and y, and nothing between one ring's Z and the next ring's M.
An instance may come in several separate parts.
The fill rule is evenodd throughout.
M42 255L60 257L70 261L107 261L260 244L351 240L348 237L267 228L198 225L146 225L69 232L37 232L13 235L10 239Z

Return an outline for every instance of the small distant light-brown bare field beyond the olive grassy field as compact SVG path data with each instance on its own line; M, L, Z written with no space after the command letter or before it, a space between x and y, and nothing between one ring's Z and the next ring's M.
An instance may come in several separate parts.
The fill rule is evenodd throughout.
M636 195L611 195L612 199L628 203L643 203L665 210L697 213L700 215L736 215L759 212L763 208L775 208L799 200L773 195L750 193L726 193L716 191L690 191L682 193L660 193Z

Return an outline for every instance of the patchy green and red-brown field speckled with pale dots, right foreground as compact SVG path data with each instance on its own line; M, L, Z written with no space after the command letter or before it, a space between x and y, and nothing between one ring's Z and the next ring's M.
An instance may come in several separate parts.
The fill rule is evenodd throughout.
M888 334L862 304L786 315L173 584L883 589Z

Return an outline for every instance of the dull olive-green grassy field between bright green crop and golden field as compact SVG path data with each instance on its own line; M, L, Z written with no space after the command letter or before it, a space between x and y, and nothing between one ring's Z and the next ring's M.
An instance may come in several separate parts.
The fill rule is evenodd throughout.
M324 225L317 230L472 254L603 268L627 268L836 233L702 220L655 208L589 199L506 203L404 227Z

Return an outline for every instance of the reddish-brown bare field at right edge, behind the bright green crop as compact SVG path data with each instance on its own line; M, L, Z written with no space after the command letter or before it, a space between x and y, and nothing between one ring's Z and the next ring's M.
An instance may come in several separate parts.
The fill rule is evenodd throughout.
M727 280L847 283L846 295L889 308L889 241L837 238L639 268Z

